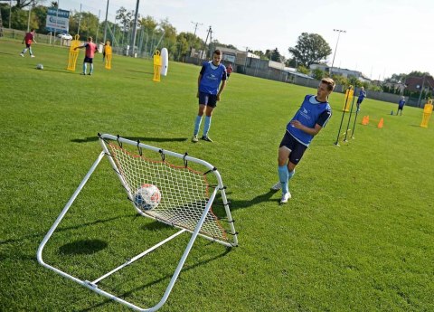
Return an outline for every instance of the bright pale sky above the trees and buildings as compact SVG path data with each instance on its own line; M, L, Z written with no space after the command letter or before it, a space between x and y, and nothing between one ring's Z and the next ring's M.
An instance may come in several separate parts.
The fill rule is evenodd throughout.
M108 0L108 19L137 0ZM157 22L168 19L177 33L194 33L232 44L239 50L278 48L291 58L301 33L317 33L332 48L327 63L362 71L373 80L393 73L428 71L434 75L434 0L138 0L138 13ZM42 2L49 5L50 1ZM59 0L63 10L90 12L105 19L105 0ZM343 30L338 33L334 30ZM337 43L337 49L336 49Z

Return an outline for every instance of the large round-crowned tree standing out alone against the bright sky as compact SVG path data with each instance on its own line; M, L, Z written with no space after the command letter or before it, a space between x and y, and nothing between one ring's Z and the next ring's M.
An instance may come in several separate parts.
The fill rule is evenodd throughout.
M332 49L324 38L317 33L301 33L297 45L288 51L297 58L297 62L309 67L311 64L325 61Z

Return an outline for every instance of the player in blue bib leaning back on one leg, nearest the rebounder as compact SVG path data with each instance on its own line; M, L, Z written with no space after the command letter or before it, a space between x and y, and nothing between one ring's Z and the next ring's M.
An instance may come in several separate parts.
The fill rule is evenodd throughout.
M288 203L288 199L291 198L288 182L296 173L296 165L312 139L332 117L328 96L334 89L335 81L331 78L323 78L316 91L316 96L307 95L300 109L287 125L287 131L278 148L279 182L271 187L273 191L282 189L280 203Z

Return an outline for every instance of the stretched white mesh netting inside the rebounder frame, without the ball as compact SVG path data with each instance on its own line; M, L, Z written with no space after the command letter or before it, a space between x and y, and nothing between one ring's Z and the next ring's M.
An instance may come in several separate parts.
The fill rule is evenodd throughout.
M111 142L108 147L132 198L140 185L154 184L158 187L160 203L152 210L141 209L143 213L156 220L194 231L209 199L210 185L206 175L187 166L135 155ZM212 213L212 209L207 213L200 232L212 239L228 241L222 223Z

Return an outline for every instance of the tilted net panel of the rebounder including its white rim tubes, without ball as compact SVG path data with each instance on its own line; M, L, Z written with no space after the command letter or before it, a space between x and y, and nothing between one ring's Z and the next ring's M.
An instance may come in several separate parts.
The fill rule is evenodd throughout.
M181 154L177 157L182 158L184 165L173 165L166 160L168 152L161 149L158 150L161 159L156 160L155 157L150 158L152 154L156 154L154 148L149 149L138 142L121 140L118 137L114 141L109 140L107 136L103 142L127 190L128 198L135 204L139 213L189 232L194 231L210 199L211 185L207 175L219 175L212 165ZM125 144L137 147L137 154L127 150ZM172 153L171 156L175 155ZM194 170L188 166L188 162L202 165L204 171ZM219 179L220 175L217 181ZM143 209L143 205L137 203L137 192L142 185L155 185L159 190L159 203L155 208ZM222 185L214 185L214 188L223 191ZM224 203L222 205L224 206ZM212 241L221 241L233 246L236 244L236 233L230 211L225 213L225 216L217 217L210 208L200 234Z

